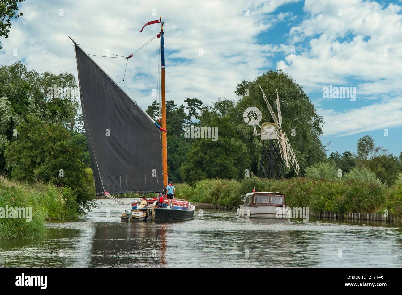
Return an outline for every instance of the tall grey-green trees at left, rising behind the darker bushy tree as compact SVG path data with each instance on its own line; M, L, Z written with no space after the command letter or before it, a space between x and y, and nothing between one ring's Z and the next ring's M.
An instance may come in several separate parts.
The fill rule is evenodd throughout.
M21 62L0 67L0 173L7 174L4 148L7 142L16 139L16 126L28 115L43 122L61 124L69 130L75 129L79 118L76 96L65 95L64 90L74 89L76 81L71 73L42 75L28 71ZM60 93L50 92L54 85Z

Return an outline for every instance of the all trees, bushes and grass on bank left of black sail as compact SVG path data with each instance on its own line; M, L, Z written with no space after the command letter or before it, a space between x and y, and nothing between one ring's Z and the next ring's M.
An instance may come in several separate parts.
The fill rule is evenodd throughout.
M0 67L0 208L32 208L32 221L0 218L0 239L41 235L45 220L94 207L89 153L72 73ZM9 179L9 180L6 180Z

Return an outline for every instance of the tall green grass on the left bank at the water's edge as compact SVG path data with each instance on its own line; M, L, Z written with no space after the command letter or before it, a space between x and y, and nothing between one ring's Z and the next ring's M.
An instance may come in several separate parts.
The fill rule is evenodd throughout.
M41 236L47 231L46 220L75 218L78 215L75 198L68 187L59 189L41 183L27 185L0 177L0 208L32 208L31 221L1 216L0 240Z

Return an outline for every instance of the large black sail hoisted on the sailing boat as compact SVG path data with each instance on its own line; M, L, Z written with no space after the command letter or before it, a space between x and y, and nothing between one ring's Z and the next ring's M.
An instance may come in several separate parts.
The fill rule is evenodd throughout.
M75 50L96 194L162 192L158 127L78 45Z

